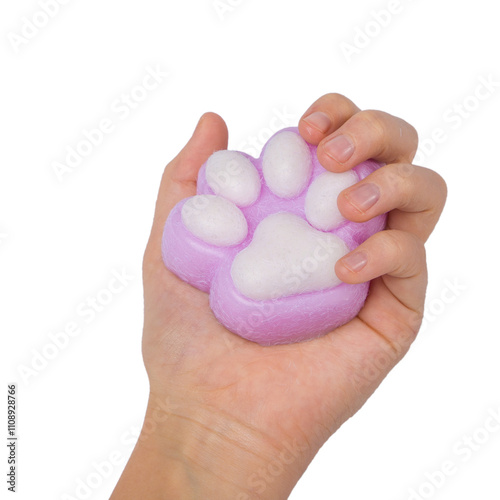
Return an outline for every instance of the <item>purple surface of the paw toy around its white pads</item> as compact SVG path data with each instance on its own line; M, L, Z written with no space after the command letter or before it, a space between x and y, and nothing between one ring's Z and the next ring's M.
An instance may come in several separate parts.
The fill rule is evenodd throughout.
M297 128L283 130L298 134ZM314 167L310 180L312 182L325 172L325 169L318 162L316 147L309 145L309 150ZM240 207L248 221L246 239L233 247L215 247L200 240L182 223L181 209L186 202L182 200L174 207L165 224L162 240L165 265L184 281L210 293L212 311L226 328L262 345L311 339L351 320L363 306L368 293L368 283L342 283L321 292L265 301L248 299L235 288L230 275L232 261L235 255L250 243L253 232L262 219L276 212L289 212L305 219L304 200L307 189L291 200L275 196L262 177L263 154L259 159L246 154L245 156L257 168L262 183L260 198L249 207ZM369 160L353 170L363 179L378 167L377 162ZM205 165L198 175L197 193L214 194L206 181ZM385 219L385 215L381 215L365 223L345 221L330 233L342 238L352 250L369 236L382 230Z

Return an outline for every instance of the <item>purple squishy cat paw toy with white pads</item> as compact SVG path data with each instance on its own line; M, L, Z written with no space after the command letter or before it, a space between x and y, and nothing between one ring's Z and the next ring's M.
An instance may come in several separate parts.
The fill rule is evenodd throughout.
M209 293L215 317L243 338L274 345L330 332L356 316L369 288L341 282L335 263L386 219L348 221L337 196L378 167L368 160L329 172L297 128L274 134L258 159L216 151L197 195L166 221L163 261Z

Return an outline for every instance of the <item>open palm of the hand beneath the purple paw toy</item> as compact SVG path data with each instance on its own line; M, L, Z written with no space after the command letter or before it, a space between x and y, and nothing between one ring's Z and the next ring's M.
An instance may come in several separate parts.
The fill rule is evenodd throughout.
M374 330L367 324L370 310L379 302L388 310L397 306L382 279L374 283L374 293L360 313L364 320L354 318L309 342L262 347L224 328L210 310L208 295L180 281L161 261L150 271L145 274L150 307L146 307L143 351L158 392L171 394L176 379L182 380L196 388L196 404L257 427L278 443L304 436L317 451L359 409L387 371L385 366L377 373L373 365L368 366L370 372L356 376L364 373L367 353L385 353L385 362L393 366L410 343L395 352L391 341L376 333L393 327L382 322ZM398 324L407 319L398 318Z

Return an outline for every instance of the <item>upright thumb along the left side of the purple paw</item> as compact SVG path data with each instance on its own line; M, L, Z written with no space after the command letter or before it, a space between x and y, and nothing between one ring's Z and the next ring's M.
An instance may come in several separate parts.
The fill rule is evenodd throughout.
M224 120L205 113L182 151L166 166L156 201L153 228L148 247L160 257L163 226L172 208L182 199L196 194L198 171L208 157L227 148L228 132Z

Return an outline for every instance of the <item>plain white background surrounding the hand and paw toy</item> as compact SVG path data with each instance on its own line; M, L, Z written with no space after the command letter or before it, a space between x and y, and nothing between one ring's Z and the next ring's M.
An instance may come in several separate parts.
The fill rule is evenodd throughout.
M408 500L412 489L417 499L500 498L500 432L484 430L489 412L500 411L493 2L220 4L227 9L211 0L70 0L31 31L24 18L44 21L38 2L2 4L2 404L6 383L16 382L17 498L83 498L77 485L90 478L87 497L105 499L118 480L148 391L142 253L164 165L199 116L221 114L229 148L248 149L251 136L265 141L274 116L295 125L327 92L412 123L426 144L418 162L441 173L449 199L427 245L426 326L291 498ZM389 8L389 20L376 15ZM31 39L20 41L23 30ZM118 112L116 100L157 66L169 76L128 116ZM497 83L478 100L481 79ZM106 118L113 131L60 181L54 163ZM123 291L94 318L82 315L80 305L123 269L133 277ZM54 354L49 334L71 322L80 334ZM43 349L53 359L23 376L20 367ZM95 464L110 456L121 465L97 476ZM455 473L434 487L426 474L445 461ZM2 480L2 498L6 489Z

